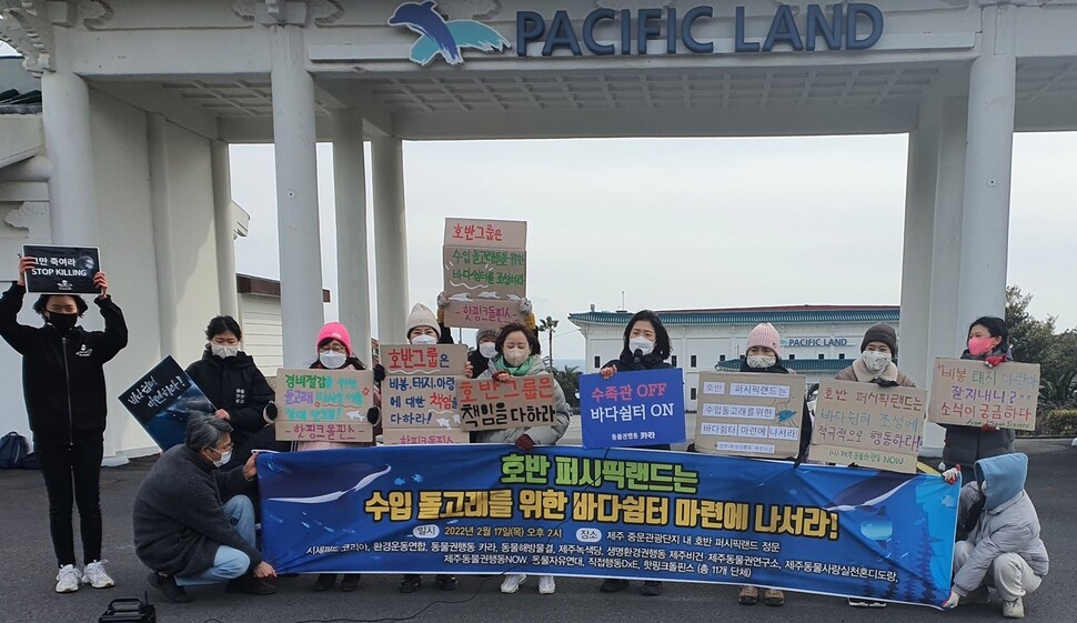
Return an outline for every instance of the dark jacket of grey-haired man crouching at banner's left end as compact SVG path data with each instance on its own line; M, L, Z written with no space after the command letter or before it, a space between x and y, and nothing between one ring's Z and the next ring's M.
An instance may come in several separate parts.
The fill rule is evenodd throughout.
M243 470L221 471L187 445L170 448L142 480L132 510L134 553L159 573L187 577L213 565L221 545L262 562L235 531L224 502L253 490Z

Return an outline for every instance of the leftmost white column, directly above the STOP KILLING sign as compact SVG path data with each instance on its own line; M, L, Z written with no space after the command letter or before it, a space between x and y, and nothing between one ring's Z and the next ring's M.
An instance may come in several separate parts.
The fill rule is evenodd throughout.
M97 245L98 198L90 144L90 90L82 78L66 69L72 60L68 29L56 27L52 31L57 70L41 74L44 145L52 162L49 178L52 242ZM104 261L108 262L108 258Z

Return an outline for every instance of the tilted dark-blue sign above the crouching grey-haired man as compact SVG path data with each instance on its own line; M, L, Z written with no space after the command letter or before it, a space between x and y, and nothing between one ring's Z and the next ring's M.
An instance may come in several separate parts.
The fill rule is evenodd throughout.
M120 394L120 402L161 450L183 443L191 416L212 416L217 412L210 399L171 356Z

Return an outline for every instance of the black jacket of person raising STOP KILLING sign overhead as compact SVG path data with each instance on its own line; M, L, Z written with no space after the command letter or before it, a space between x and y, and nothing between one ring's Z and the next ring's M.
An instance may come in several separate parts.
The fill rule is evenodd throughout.
M104 364L128 343L123 313L111 297L93 300L104 331L51 324L27 326L17 316L27 289L13 283L0 297L0 336L22 355L22 391L34 441L100 442L108 420Z

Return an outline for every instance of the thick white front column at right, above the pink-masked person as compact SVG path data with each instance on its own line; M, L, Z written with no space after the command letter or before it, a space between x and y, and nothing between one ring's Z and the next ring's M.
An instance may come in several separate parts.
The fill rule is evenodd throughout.
M979 57L969 69L965 213L958 314L1001 316L1006 309L1009 187L1014 151L1016 7L983 9Z

